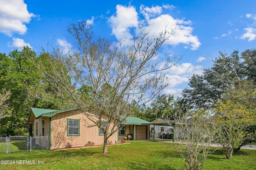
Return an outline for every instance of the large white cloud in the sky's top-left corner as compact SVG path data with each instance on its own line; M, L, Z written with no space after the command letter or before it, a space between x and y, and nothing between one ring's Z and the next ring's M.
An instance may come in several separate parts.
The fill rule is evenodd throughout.
M34 14L29 13L24 0L0 0L0 32L11 37L13 33L23 35Z

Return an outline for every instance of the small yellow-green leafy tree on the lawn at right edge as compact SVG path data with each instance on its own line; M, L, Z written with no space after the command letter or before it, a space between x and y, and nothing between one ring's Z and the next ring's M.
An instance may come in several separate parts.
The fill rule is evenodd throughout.
M227 159L231 159L234 149L256 135L255 131L248 131L256 124L255 89L250 81L233 81L220 103L216 104L216 136Z

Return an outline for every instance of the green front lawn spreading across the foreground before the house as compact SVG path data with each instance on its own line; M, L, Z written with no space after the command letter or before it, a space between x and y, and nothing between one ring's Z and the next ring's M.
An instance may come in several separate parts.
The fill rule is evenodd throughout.
M0 169L182 170L185 162L176 147L175 143L131 141L126 145L108 146L108 154L102 154L103 147L1 154L0 160L11 160L15 164L0 164ZM17 164L16 160L27 160L27 163L31 164ZM43 164L38 164L38 161ZM216 150L208 156L202 167L202 170L238 169L256 169L256 150L241 150L235 153L231 160L226 160L224 154Z

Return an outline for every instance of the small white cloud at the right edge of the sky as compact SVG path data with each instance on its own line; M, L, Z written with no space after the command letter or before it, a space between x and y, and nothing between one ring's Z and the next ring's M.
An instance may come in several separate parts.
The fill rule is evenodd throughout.
M244 33L239 39L248 39L248 41L252 41L256 39L256 15L246 14L246 18L252 18L253 23L250 24L249 27L244 28Z

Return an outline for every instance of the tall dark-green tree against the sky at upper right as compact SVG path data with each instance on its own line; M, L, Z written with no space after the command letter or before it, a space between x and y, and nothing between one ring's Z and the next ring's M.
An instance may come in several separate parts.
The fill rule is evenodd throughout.
M193 75L190 88L182 91L184 104L192 107L208 108L219 102L230 85L230 80L252 80L255 82L256 50L248 49L239 55L236 50L230 56L220 52L211 68L202 75Z

